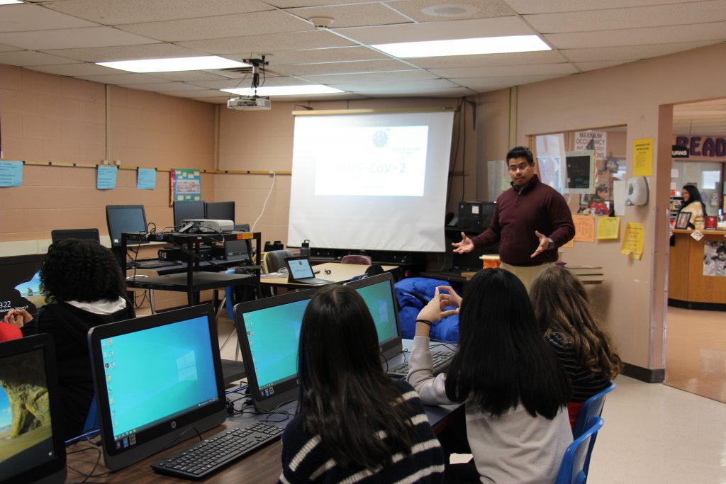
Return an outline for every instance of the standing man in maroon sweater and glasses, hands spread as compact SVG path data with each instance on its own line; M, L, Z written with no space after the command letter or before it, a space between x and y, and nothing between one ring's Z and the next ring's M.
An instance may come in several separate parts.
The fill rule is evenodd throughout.
M564 197L540 183L534 158L527 147L507 153L512 188L499 195L489 229L476 237L454 242L455 253L484 249L499 242L502 268L529 284L540 271L557 261L557 247L575 235L572 214Z

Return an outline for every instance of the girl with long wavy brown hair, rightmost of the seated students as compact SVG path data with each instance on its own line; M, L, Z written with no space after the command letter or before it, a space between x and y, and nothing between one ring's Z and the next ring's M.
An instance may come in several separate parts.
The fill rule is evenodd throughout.
M529 296L544 340L555 350L570 378L568 403L574 427L582 403L610 386L622 368L608 335L592 317L579 279L562 267L548 267L534 279Z

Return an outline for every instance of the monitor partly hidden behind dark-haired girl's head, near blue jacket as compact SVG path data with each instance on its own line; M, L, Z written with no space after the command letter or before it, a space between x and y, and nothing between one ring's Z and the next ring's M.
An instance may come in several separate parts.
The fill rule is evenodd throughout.
M383 358L392 358L401 353L401 324L391 273L365 277L346 285L361 295L368 306L378 332L378 345Z

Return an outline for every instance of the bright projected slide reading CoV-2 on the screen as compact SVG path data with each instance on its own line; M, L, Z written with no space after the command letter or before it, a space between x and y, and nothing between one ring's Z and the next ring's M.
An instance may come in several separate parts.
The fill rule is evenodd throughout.
M428 126L346 127L316 148L315 194L423 197Z

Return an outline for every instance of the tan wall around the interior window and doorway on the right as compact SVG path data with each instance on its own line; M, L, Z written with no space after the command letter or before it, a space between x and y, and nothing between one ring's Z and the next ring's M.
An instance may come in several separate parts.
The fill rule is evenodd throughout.
M658 369L665 361L672 104L726 97L725 58L726 44L719 44L512 90L518 107L512 115L518 144L526 144L534 134L627 125L625 154L631 176L633 140L655 139L650 202L627 208L622 220L623 224L645 223L643 259L621 255L619 241L577 243L563 255L568 263L603 266L605 284L591 293L605 327L630 364ZM502 127L510 122L506 98L502 91L478 97L478 104L488 106L489 114L500 113L488 123ZM482 151L484 160L500 159L501 141L485 144Z

